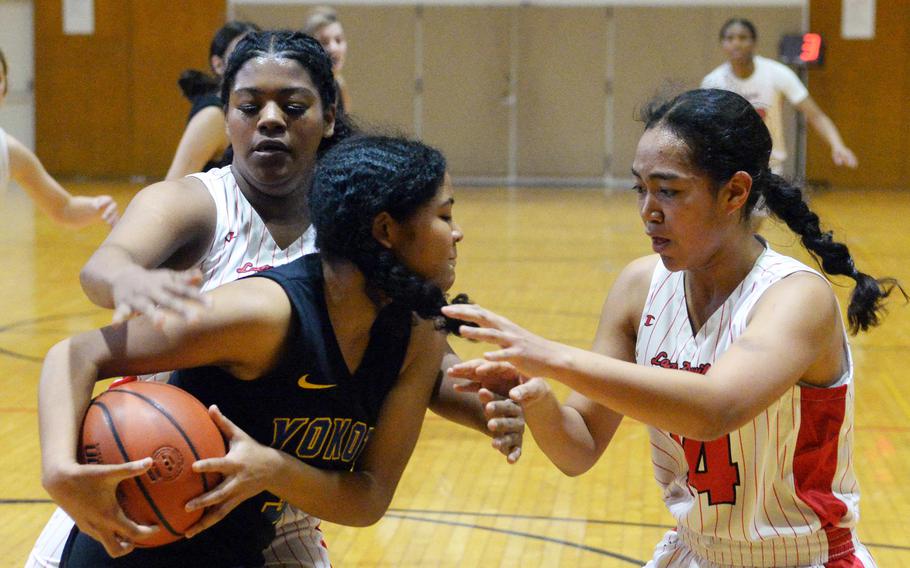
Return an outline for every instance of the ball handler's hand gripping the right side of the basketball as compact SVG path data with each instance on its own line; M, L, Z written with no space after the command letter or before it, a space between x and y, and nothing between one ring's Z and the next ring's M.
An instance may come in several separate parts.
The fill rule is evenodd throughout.
M193 471L218 472L224 479L208 493L203 493L186 504L187 511L206 508L199 522L186 530L187 538L192 538L214 525L237 505L264 491L272 470L270 458L274 450L250 437L221 414L217 406L209 407L209 415L227 438L230 446L223 458L210 458L193 463Z

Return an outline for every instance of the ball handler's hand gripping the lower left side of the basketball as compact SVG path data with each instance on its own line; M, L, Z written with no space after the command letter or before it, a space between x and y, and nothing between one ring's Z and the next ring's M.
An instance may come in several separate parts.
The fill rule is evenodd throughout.
M45 489L79 526L97 540L111 557L129 554L134 541L160 529L130 520L117 502L117 485L148 471L151 458L117 465L74 465L45 481Z

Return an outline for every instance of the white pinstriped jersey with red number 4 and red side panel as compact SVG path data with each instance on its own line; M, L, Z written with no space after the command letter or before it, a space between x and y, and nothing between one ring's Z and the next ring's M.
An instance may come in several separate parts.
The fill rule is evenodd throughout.
M807 271L765 248L693 334L684 272L657 263L638 326L638 364L705 374L736 341L772 284ZM831 387L797 384L739 430L700 442L649 428L654 474L679 538L721 565L804 566L853 553L853 361ZM705 380L709 380L707 377ZM743 396L749 396L743 392Z

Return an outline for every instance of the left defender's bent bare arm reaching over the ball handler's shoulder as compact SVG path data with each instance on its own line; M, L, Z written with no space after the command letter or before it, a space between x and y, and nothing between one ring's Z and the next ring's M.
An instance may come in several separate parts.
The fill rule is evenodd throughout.
M114 322L142 313L160 323L159 308L193 317L202 275L180 269L193 266L211 244L215 217L215 202L197 180L143 189L79 273L86 296L115 308Z

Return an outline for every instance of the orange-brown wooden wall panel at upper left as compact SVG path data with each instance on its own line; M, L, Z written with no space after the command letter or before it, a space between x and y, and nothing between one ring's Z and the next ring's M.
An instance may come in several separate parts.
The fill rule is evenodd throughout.
M35 2L38 156L64 176L163 177L189 104L180 71L207 69L223 0L95 0L95 33L63 34L61 0Z

